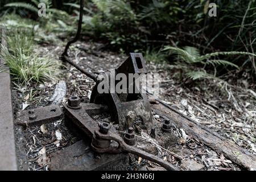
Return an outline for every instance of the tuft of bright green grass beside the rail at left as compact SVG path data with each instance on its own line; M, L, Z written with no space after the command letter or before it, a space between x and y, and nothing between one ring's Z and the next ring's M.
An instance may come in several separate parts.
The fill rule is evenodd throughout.
M14 80L22 85L57 79L60 63L49 56L40 57L33 51L33 38L24 34L7 36L9 48L2 47L0 58L10 69ZM3 70L2 70L3 71Z

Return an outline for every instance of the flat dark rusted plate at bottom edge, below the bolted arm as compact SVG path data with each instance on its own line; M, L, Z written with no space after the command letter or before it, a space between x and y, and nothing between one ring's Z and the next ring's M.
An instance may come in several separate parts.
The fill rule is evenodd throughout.
M89 143L80 140L53 154L49 169L52 171L126 170L128 164L127 154L96 154Z

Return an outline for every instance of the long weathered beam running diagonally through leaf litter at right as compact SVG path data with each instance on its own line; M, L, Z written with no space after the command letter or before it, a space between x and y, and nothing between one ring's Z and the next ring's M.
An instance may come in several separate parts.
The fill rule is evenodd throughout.
M214 151L222 153L226 158L232 160L233 163L238 164L238 166L248 170L256 169L256 157L231 140L221 137L216 132L200 125L200 123L193 121L191 118L186 117L162 102L157 105L151 105L151 107L156 113L171 118L174 124L185 129L187 134L199 139Z

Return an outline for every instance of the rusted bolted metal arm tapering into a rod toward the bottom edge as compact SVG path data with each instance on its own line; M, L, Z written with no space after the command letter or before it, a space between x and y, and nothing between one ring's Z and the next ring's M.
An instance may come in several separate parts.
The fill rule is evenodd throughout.
M160 166L163 166L168 170L177 170L174 166L172 166L172 164L164 161L163 159L160 159L157 156L149 154L143 150L139 150L136 147L135 142L127 142L128 144L125 143L125 141L117 134L117 131L111 123L97 123L89 116L88 113L86 113L86 110L88 110L90 106L83 103L79 105L80 109L72 109L68 105L64 105L63 111L65 119L71 120L82 131L84 131L84 133L90 139L92 139L92 148L94 151L99 153L106 152L115 154L129 152L131 154L141 156L144 159L158 163ZM129 130L130 131L128 134L130 137L127 137L127 135L126 137L129 139L135 138L132 129Z

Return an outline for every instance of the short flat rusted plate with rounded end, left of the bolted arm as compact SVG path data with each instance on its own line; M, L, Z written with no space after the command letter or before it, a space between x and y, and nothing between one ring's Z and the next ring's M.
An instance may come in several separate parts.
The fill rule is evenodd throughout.
M22 110L18 112L15 120L16 125L42 125L56 121L63 117L63 112L57 105L39 107L36 109Z

